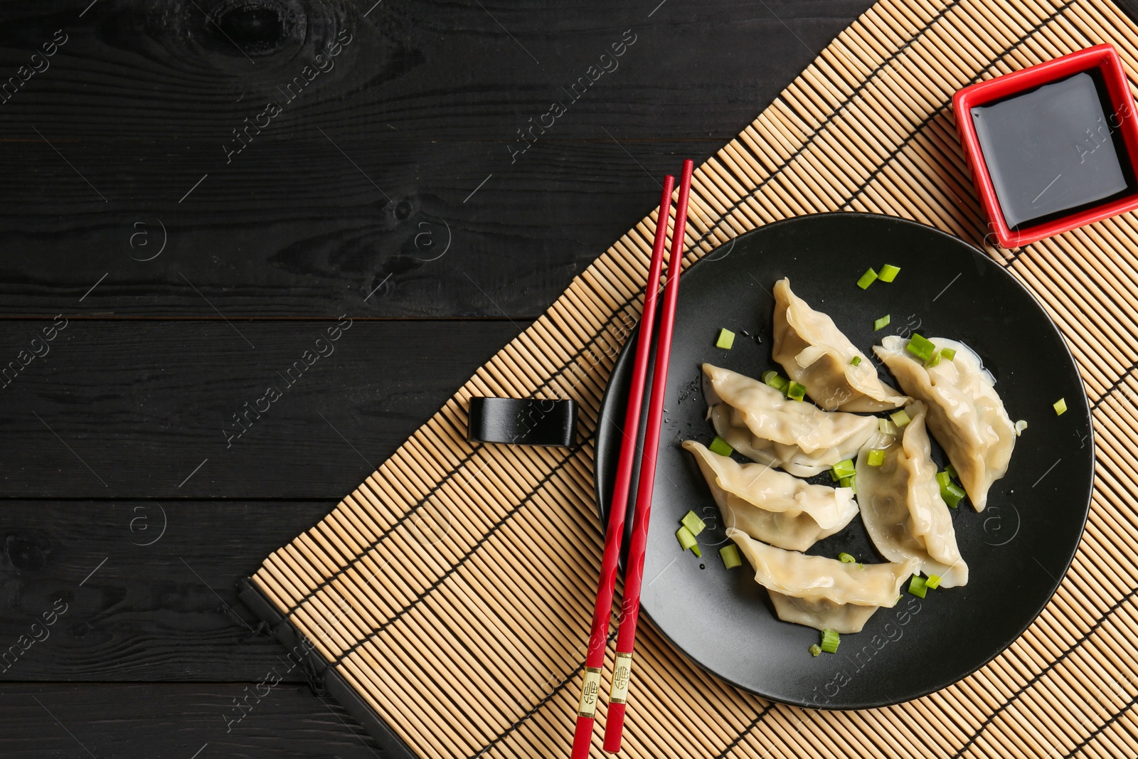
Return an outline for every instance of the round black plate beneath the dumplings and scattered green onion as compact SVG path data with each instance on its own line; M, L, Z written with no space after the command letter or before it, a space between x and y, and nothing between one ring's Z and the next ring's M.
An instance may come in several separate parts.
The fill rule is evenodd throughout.
M894 282L857 287L866 269L887 263L901 267ZM1012 419L1029 424L987 510L976 513L962 502L953 512L971 572L967 586L930 591L923 600L906 592L896 608L877 611L861 633L843 635L836 654L817 658L807 649L818 642L818 633L775 617L745 559L739 569L724 569L718 548L726 537L718 509L694 461L679 447L685 439L707 444L714 436L704 420L701 363L751 377L778 369L770 358L769 290L782 277L790 277L794 292L830 314L867 355L890 333L920 331L963 340L995 374ZM874 320L885 314L889 327L874 332ZM723 327L736 333L731 350L715 347ZM597 424L602 523L634 343L617 362ZM1090 409L1058 330L1028 290L981 250L922 224L867 214L802 216L762 226L685 272L671 352L641 608L676 649L708 671L801 707L899 703L983 666L1023 633L1055 593L1090 505ZM1052 407L1059 398L1067 405L1062 416ZM643 426L641 430L643 435ZM933 455L946 462L935 445ZM823 475L816 481L830 479ZM675 537L690 509L708 522L699 536L702 559L682 552ZM883 561L860 519L808 553L836 556L841 551Z

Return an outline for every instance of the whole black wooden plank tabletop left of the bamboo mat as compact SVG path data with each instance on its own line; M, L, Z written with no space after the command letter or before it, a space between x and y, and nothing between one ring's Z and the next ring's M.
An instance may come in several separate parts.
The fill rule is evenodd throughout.
M0 756L380 753L234 584L869 5L0 6Z

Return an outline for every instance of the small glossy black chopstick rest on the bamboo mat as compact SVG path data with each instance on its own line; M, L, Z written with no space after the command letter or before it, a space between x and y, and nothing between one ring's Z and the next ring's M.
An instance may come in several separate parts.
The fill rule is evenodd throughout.
M577 403L558 398L471 398L467 439L569 447L577 440Z

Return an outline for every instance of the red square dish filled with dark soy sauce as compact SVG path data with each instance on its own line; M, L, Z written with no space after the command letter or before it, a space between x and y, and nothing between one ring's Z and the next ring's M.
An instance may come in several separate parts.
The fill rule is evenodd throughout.
M1138 208L1138 114L1114 46L966 86L953 112L1001 247Z

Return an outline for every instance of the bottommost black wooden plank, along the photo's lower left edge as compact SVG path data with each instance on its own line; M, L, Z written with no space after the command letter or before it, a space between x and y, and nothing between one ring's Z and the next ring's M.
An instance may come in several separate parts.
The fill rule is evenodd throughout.
M295 684L8 683L0 711L0 754L20 759L384 757L344 709Z

